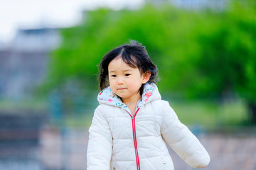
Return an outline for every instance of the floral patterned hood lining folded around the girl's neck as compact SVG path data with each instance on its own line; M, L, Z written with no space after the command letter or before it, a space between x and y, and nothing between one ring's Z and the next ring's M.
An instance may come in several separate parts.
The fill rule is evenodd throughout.
M111 106L117 106L120 108L124 108L124 110L129 111L129 108L122 103L121 98L114 94L110 89L110 86L100 91L97 96L97 100L99 103L108 104ZM150 101L161 100L161 96L157 89L156 84L145 84L143 89L142 98L137 103L137 108L141 108L145 103L149 103Z

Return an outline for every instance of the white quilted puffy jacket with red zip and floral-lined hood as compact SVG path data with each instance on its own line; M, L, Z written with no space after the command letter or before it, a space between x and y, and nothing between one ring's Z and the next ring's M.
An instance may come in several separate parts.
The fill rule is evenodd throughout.
M174 170L165 142L194 168L210 162L206 149L161 100L155 84L145 84L135 115L110 87L100 92L98 101L89 129L87 170Z

